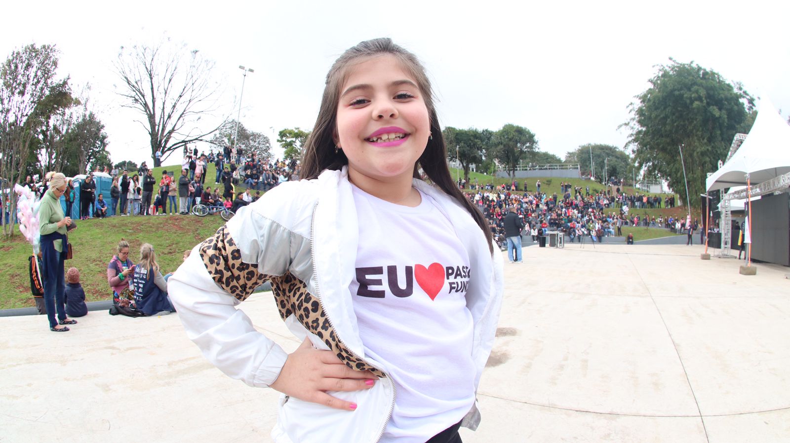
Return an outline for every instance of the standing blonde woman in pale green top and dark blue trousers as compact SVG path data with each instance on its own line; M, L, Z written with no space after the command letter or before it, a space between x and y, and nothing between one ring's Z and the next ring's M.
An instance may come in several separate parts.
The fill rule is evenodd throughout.
M63 325L77 323L76 320L66 317L66 278L63 265L69 245L69 240L66 238L66 227L70 226L71 217L63 215L60 197L68 192L68 186L66 185L66 176L60 172L48 173L47 180L49 190L44 193L39 208L44 305L47 306L50 330L52 332L66 332L69 328ZM55 319L56 310L57 319Z

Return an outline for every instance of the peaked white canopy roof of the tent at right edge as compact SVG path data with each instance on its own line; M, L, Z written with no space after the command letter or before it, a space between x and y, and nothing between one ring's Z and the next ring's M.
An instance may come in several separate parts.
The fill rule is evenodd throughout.
M769 99L760 100L749 135L732 158L705 181L706 189L752 186L790 172L790 126Z

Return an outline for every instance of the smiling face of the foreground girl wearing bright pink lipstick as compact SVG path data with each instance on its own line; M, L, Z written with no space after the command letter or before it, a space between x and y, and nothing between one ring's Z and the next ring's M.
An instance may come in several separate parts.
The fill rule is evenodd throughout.
M430 127L417 81L397 58L379 55L351 68L340 88L336 143L352 181L410 180Z

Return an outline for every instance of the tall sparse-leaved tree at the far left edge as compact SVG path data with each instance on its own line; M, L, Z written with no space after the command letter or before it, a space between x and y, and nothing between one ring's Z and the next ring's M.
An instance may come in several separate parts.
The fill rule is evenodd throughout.
M11 188L27 167L32 140L40 128L36 107L57 82L58 51L55 46L29 44L13 51L0 68L0 190ZM0 208L16 212L17 199L0 191ZM3 224L3 234L13 235L13 225Z

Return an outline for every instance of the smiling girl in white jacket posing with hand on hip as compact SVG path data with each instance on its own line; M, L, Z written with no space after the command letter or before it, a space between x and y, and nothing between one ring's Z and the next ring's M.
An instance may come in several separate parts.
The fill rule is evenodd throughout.
M337 59L302 177L169 280L187 335L225 374L282 392L275 441L461 441L480 422L502 255L453 184L413 54L374 39ZM235 309L266 280L303 340L290 355Z

